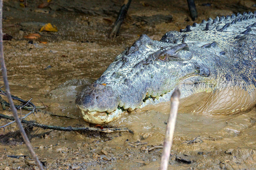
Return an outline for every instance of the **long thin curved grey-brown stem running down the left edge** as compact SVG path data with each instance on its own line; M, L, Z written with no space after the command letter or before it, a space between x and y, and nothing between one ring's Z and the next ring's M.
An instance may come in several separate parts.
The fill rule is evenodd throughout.
M17 114L17 109L13 104L12 101L12 97L11 97L11 92L10 92L10 87L9 87L9 82L7 79L7 69L5 66L5 62L4 62L4 48L3 48L3 27L2 27L2 18L3 18L3 0L0 0L0 63L1 63L1 68L2 68L2 74L3 74L3 79L4 79L4 86L5 86L5 90L7 93L7 98L9 100L9 103L11 105L11 110L14 116L14 119L19 127L20 130L20 134L23 138L23 140L25 141L27 147L28 147L28 151L30 152L30 154L32 155L34 161L36 162L36 165L38 166L38 168L40 170L43 170L43 166L41 164L41 162L38 160L36 153L34 152L29 140L28 140L28 136L25 132L25 130L22 127L22 124L20 122L19 116Z

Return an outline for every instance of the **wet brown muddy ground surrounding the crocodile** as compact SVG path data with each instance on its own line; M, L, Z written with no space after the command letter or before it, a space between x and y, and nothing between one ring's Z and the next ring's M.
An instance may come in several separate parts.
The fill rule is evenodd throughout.
M4 55L12 94L24 100L33 98L37 106L42 101L56 115L73 117L39 112L26 119L49 125L92 126L80 118L74 102L76 92L99 78L114 57L131 46L140 34L160 40L167 31L179 31L193 23L185 0L134 0L119 36L109 39L107 35L121 0L52 0L43 9L37 8L43 2L46 1L28 0L28 7L24 8L23 2L4 0L3 31L13 37L4 41ZM250 0L196 1L196 22L233 12L255 11L254 4ZM58 32L39 32L44 23L54 24ZM39 33L41 37L31 42L24 38L29 33ZM0 83L3 84L2 79ZM255 111L253 108L225 116L179 113L169 168L255 169ZM1 113L11 115L8 111ZM106 125L127 127L134 134L81 134L34 128L31 143L46 169L157 169L162 149L149 152L147 148L163 143L168 113L169 104L162 103ZM0 131L0 169L36 168L26 165L29 156L7 157L28 155L25 144L15 136L17 130L12 124ZM11 138L4 140L7 133Z

